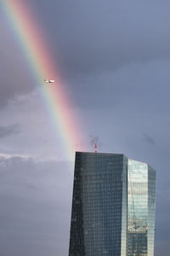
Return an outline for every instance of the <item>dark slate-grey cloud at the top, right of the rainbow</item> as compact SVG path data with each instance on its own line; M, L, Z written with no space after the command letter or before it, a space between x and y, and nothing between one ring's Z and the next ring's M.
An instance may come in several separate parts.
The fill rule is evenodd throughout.
M43 20L54 33L56 60L73 77L170 58L167 1L58 1L51 6L42 1Z

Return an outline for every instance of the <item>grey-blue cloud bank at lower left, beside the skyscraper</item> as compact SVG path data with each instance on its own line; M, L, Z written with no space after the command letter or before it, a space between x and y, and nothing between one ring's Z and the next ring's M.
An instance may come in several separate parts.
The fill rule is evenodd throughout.
M0 159L1 255L68 253L72 175L67 162Z

